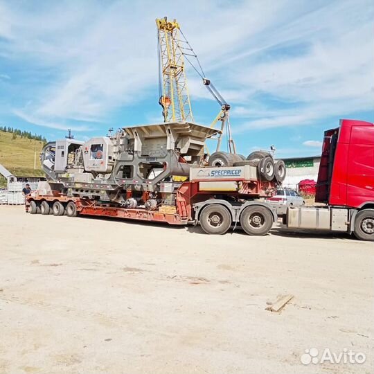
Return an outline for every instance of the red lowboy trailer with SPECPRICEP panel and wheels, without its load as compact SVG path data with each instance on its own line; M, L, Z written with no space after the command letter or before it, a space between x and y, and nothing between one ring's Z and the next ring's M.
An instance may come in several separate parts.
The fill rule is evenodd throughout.
M89 193L94 186L82 184ZM274 191L274 182L261 181L251 165L191 168L189 181L161 182L161 204L126 208L89 197L68 196L60 185L39 182L28 196L30 213L55 216L91 215L168 224L200 224L209 234L223 234L240 225L249 235L265 235L277 220L276 212L263 200ZM132 197L127 190L127 200ZM147 202L147 199L144 199Z

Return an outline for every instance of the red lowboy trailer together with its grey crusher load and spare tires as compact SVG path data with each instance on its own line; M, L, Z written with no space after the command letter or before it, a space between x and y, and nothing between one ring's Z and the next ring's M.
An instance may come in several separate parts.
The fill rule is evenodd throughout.
M277 217L263 199L284 179L284 163L269 152L260 152L261 161L215 152L208 163L205 141L217 134L173 122L47 143L41 154L47 181L28 196L30 213L199 223L211 234L240 224L250 235L265 235Z

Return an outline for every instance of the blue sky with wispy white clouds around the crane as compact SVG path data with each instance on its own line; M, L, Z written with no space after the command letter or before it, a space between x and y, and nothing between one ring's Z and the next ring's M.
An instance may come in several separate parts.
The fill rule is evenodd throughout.
M0 123L53 140L161 122L163 16L231 104L240 153L319 154L339 118L374 122L372 0L0 0ZM220 108L187 74L195 121L209 125Z

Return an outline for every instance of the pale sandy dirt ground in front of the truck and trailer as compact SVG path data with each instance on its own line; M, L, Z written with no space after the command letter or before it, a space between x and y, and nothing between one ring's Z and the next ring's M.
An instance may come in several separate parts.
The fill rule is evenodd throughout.
M373 242L23 206L0 206L0 238L1 374L373 373ZM303 365L310 348L366 362Z

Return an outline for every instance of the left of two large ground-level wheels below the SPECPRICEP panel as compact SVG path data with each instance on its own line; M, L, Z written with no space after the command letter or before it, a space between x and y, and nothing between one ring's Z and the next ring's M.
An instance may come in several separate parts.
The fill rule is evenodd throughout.
M230 229L231 214L220 204L209 204L200 215L200 226L202 229L213 235L222 235Z

